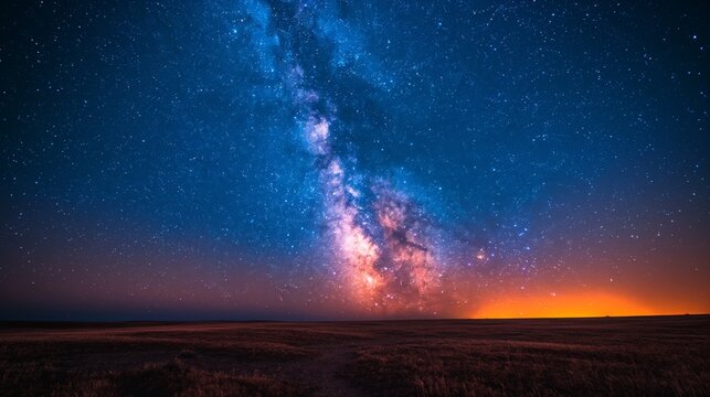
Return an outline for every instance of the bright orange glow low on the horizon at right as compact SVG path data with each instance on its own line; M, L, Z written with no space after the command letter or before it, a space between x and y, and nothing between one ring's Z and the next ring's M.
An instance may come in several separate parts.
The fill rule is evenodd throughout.
M502 298L473 313L476 319L585 318L671 314L606 292L548 293Z

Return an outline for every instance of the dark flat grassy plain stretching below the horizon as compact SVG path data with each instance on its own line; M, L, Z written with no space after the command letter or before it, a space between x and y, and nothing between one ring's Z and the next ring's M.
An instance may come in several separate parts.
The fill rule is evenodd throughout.
M0 323L0 396L710 396L710 315Z

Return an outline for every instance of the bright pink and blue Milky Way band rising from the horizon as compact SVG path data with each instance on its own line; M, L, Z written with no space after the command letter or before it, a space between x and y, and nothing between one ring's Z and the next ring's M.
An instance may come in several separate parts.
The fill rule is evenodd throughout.
M305 12L303 7L296 11L297 21ZM268 31L269 19L253 17ZM289 61L280 68L300 118L298 130L318 170L322 222L327 225L322 238L331 254L331 262L326 265L338 288L367 310L428 310L430 296L437 291L443 269L428 236L426 215L410 197L377 178L365 179L369 183L363 189L370 190L373 198L363 198L363 192L351 183L362 175L347 167L332 148L330 129L337 122L337 107L316 87L306 85L304 69L309 67L298 64L297 58Z

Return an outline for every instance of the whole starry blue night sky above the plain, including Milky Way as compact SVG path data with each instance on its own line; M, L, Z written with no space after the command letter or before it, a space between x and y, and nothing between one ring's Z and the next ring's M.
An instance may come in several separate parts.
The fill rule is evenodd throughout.
M702 1L9 1L0 318L710 312Z

